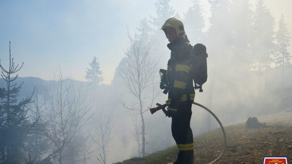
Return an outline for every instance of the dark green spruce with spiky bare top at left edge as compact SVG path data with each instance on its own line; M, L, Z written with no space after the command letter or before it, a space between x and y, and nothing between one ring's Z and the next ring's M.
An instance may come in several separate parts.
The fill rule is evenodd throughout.
M1 60L0 60L1 61ZM19 71L23 66L14 64L11 59L9 42L9 69L6 70L1 62L2 78L7 82L7 88L1 88L0 104L0 163L19 164L24 157L25 140L33 127L29 123L27 105L31 102L32 96L23 100L17 100L22 84L12 84L18 77L12 74Z

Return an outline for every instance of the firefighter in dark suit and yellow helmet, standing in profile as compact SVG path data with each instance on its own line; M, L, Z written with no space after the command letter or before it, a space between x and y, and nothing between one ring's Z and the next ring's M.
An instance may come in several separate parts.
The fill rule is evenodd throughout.
M172 136L179 149L174 164L193 164L193 132L190 127L191 108L195 97L193 77L190 73L192 46L189 44L181 20L169 18L161 30L165 32L166 38L170 42L167 47L171 50L167 63L169 80L167 103L169 106L166 115L172 118Z

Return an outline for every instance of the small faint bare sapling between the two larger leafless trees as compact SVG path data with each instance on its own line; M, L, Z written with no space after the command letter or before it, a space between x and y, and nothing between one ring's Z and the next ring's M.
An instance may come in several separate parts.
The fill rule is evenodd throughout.
M96 107L97 108L97 107ZM115 125L114 116L111 111L106 109L104 106L99 107L98 112L93 117L93 131L91 134L93 142L95 142L98 147L102 150L101 159L97 159L102 164L106 164L106 151L109 148L109 142L113 138L113 126Z

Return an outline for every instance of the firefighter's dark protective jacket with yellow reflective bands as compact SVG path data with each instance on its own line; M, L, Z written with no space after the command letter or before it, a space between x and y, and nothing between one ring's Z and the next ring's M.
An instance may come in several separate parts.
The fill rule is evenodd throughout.
M193 47L186 43L182 37L177 37L167 47L171 50L170 59L167 63L169 78L168 104L169 110L171 110L171 104L173 103L194 100L195 90L193 87L193 77L190 73Z

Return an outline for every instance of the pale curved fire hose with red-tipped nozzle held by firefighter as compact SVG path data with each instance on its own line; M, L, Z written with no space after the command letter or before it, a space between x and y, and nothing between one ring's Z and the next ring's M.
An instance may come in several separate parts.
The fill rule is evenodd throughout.
M225 152L225 150L226 150L227 138L226 138L225 130L224 130L223 125L221 124L221 121L217 118L217 116L216 116L212 111L210 111L210 109L208 109L207 107L205 107L205 106L203 106L203 105L201 105L201 104L199 104L199 103L196 103L196 102L193 102L193 104L195 104L195 105L197 105L197 106L199 106L199 107L201 107L201 108L204 108L206 111L208 111L210 114L212 114L212 116L217 120L217 122L219 123L219 125L220 125L220 127L221 127L221 129L222 129L223 136L224 136L223 150L222 150L221 154L219 155L219 157L218 157L217 159L215 159L214 161L212 161L212 162L209 163L209 164L213 164L213 163L217 162L219 159L221 159L221 158L223 157L224 152ZM163 104L163 105L160 105L160 104L156 103L156 105L157 105L158 107L156 107L156 108L151 108L151 109L150 109L151 114L155 113L156 111L158 111L158 110L160 110L160 109L163 110L165 107L168 106L167 103L166 103L166 104ZM164 112L165 112L165 109L164 109Z

